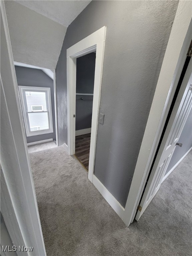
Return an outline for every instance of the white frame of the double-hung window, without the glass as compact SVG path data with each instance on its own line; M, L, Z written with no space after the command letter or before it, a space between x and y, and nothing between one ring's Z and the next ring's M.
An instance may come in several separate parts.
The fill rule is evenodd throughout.
M18 86L19 88L19 96L21 101L21 109L23 113L23 121L25 125L25 132L26 136L35 136L40 134L46 134L46 133L52 133L53 132L53 118L52 118L52 108L51 108L51 89L49 87L32 87L32 86ZM46 93L46 101L47 101L47 110L46 111L28 111L27 109L27 102L26 102L26 96L25 91L41 91ZM49 129L46 130L37 130L37 131L30 131L30 125L29 125L29 113L42 113L46 112L48 113L48 122L49 122Z

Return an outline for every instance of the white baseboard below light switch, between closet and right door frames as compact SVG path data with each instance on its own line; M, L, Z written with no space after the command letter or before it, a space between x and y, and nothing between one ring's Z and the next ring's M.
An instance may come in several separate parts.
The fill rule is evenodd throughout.
M106 187L97 179L95 175L93 175L92 180L93 185L99 190L101 195L105 198L108 204L113 208L113 210L119 215L122 219L124 214L124 208L120 205L120 203L115 199L115 197L106 189Z

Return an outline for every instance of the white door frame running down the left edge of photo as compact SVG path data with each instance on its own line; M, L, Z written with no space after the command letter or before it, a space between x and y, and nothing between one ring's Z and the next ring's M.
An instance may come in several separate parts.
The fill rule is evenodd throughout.
M4 1L1 1L1 213L20 255L46 256L30 167ZM1 59L2 60L2 59Z

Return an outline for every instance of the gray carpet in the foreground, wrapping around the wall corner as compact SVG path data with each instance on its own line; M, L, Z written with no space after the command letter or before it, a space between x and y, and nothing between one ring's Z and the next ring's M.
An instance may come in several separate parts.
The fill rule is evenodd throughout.
M128 228L62 147L29 155L47 256L191 255L192 152Z

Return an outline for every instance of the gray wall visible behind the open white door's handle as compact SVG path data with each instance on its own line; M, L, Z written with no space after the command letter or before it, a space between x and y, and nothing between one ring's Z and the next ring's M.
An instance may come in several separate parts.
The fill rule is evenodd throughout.
M186 152L192 147L192 110L189 113L181 136L178 140L180 143L183 143L183 146L176 147L171 158L171 161L168 165L165 175L173 168L173 166L186 154Z

